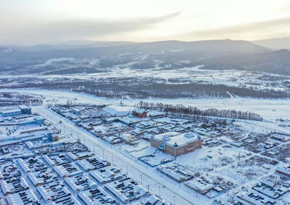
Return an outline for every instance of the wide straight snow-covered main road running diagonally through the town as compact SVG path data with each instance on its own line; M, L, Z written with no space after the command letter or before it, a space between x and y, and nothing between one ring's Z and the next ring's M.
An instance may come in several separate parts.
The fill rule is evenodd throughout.
M146 167L138 160L130 159L130 157L121 154L119 151L114 150L106 141L88 133L84 128L75 126L73 122L51 111L51 109L39 106L34 107L33 110L53 122L62 132L70 135L73 139L82 141L90 150L120 167L123 172L128 173L128 176L141 183L143 187L160 196L166 202L176 205L210 204L210 200L203 195L193 194L192 191L186 190L184 184L179 184L166 178L156 173L156 170L152 169L152 167Z

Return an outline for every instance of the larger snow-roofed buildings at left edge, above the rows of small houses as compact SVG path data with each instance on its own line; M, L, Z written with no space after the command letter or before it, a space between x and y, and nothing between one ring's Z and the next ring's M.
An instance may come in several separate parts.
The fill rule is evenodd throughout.
M23 114L8 117L0 115L0 160L32 156L36 149L49 148L65 140L60 130L45 122L45 118L32 114L29 107L19 107L24 110ZM8 113L9 110L3 111Z

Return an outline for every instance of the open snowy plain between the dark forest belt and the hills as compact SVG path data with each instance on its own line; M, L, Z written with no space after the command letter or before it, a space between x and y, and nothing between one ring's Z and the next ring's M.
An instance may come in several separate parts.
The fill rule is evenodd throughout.
M97 67L99 64L98 59L75 59L75 58L53 58L47 59L41 64L34 66L28 66L27 69L43 69L46 66L52 66L52 69L48 71L39 72L37 74L15 74L7 75L3 74L0 76L1 79L9 79L12 82L8 84L4 81L3 85L16 85L18 79L29 78L30 81L54 81L57 79L65 79L69 81L110 81L114 79L116 81L121 81L121 79L126 78L136 78L136 79L155 79L155 81L163 81L169 84L178 83L208 83L213 85L228 85L234 87L247 87L254 90L276 90L276 91L286 91L284 82L289 81L288 77L281 76L278 74L269 73L258 73L243 70L205 70L202 69L203 65L193 66L190 68L165 68L159 67L158 65L162 63L161 61L156 63L153 68L137 69L134 68L134 64L137 61L132 61L127 64L120 64L112 66L110 68ZM65 74L58 73L60 70L67 70L68 68L88 68L96 69L93 73L86 73L86 69L79 71L78 73ZM54 68L54 69L53 69ZM53 74L51 71L58 71ZM288 89L289 90L289 89Z

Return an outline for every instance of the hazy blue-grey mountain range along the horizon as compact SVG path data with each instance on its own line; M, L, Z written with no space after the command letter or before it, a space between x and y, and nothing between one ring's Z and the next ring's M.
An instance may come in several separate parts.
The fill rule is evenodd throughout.
M0 48L0 71L37 73L40 62L58 58L98 59L98 68L131 63L132 68L186 68L204 65L206 69L240 69L290 75L290 51L282 43L290 38L249 42L245 40L203 40L182 42L57 42L36 46L5 46ZM277 42L277 43L275 43ZM287 48L288 44L284 44ZM290 46L289 46L290 48ZM74 72L77 64L73 64ZM29 70L34 66L33 70ZM83 72L84 65L80 66ZM46 71L56 70L47 66ZM41 72L45 70L41 69ZM40 72L40 70L39 70ZM68 70L68 73L69 70Z

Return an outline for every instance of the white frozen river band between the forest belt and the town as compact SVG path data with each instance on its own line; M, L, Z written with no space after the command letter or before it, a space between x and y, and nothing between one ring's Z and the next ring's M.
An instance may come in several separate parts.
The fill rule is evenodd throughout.
M120 100L101 98L89 94L75 92L64 92L56 90L25 90L25 89L1 89L3 92L19 92L27 94L38 94L43 96L44 103L67 103L72 100L76 103L90 103L96 105L120 105ZM122 100L123 105L135 105L142 99ZM240 111L252 111L260 114L264 119L274 121L277 118L290 118L290 99L256 99L256 98L204 98L204 99L145 99L147 102L162 102L164 104L182 104L199 109L236 109Z

